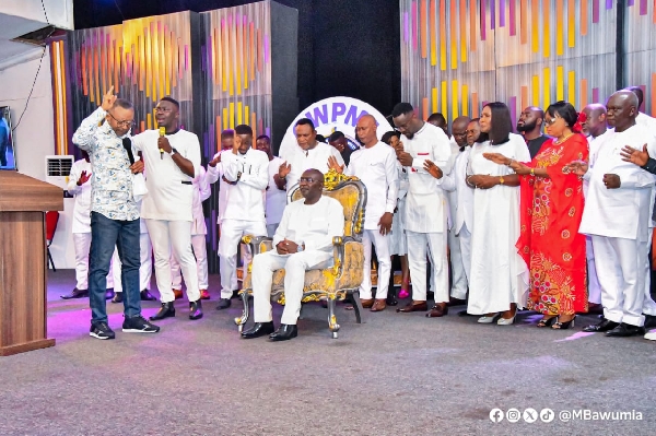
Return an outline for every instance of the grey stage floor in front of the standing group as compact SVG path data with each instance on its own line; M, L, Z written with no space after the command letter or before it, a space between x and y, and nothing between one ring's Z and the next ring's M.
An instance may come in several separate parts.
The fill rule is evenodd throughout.
M0 434L649 435L656 424L656 342L582 332L594 316L551 331L535 328L534 313L500 327L457 316L461 307L441 319L389 307L356 325L338 305L333 340L327 310L309 304L298 338L270 343L239 338L239 301L215 310L219 278L210 282L203 319L190 321L178 301L178 316L154 335L122 333L122 307L108 302L117 338L98 341L89 337L89 301L59 298L73 271L50 271L57 345L0 358ZM143 314L157 307L144 302ZM276 323L280 314L274 306ZM493 423L495 408L549 408L555 419ZM577 410L590 412L560 421ZM642 421L591 420L632 411Z

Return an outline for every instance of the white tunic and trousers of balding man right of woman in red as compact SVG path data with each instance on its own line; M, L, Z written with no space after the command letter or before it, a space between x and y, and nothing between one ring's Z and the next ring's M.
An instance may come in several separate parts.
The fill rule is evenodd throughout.
M604 317L632 326L644 323L645 298L651 302L646 260L656 177L622 161L620 152L625 145L640 150L645 143L649 155L656 155L656 139L641 125L608 132L585 174L589 185L579 227L591 236ZM605 174L620 176L620 188L607 189Z

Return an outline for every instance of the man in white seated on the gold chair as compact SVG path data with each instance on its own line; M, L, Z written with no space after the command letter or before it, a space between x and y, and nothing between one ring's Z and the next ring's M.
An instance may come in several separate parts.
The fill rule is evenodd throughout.
M339 201L321 196L324 175L307 169L301 176L302 200L286 205L273 236L276 251L253 259L253 305L255 326L243 338L270 334L273 341L296 338L305 271L329 268L332 263L332 238L344 234L344 212ZM280 328L273 332L271 283L273 271L284 268L284 299Z

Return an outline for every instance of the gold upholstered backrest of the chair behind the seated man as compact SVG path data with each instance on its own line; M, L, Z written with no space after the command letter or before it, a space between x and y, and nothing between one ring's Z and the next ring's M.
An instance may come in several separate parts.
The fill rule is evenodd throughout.
M358 177L344 176L331 169L324 175L324 196L332 197L344 208L344 236L362 241L366 187ZM291 201L303 198L298 186L292 188Z

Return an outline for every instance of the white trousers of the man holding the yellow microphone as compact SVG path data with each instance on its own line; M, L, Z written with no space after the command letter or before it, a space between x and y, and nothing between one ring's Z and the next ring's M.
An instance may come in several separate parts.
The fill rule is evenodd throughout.
M196 259L191 251L191 225L188 221L144 220L155 254L155 279L162 303L175 301L171 286L171 252L180 262L189 302L200 299Z

